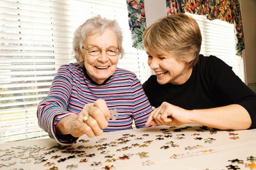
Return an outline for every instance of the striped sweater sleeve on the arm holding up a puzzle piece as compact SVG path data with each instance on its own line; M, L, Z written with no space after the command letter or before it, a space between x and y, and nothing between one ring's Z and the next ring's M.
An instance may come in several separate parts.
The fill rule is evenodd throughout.
M62 65L45 97L38 105L38 125L44 129L51 138L60 144L72 144L76 139L71 135L57 135L55 125L65 116L76 114L67 111L70 95L72 92L73 74L69 65Z

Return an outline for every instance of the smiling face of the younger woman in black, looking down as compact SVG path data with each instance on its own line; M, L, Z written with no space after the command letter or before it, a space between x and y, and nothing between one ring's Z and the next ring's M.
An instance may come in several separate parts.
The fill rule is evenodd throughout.
M191 73L189 62L180 61L172 54L159 54L149 49L148 65L157 75L157 82L161 85L172 83L181 85L185 83Z

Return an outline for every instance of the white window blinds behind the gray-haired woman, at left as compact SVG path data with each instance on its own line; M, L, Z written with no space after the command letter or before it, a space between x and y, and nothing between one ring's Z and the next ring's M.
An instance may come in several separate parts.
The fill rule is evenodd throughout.
M97 14L119 22L125 56L118 67L144 82L145 52L131 47L125 0L0 0L0 142L47 136L38 127L38 102L60 65L75 62L75 29Z

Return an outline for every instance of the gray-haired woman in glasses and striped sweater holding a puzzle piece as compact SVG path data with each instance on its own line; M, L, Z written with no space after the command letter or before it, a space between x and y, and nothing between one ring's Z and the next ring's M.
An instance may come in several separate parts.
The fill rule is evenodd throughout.
M38 105L38 123L61 144L79 136L145 127L152 108L134 73L116 68L123 55L115 20L93 17L76 29L76 64L62 65L49 94ZM111 117L110 111L116 111Z

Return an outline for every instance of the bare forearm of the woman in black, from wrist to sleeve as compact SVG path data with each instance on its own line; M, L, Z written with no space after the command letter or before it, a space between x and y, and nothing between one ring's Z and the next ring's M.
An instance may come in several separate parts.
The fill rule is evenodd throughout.
M251 126L250 115L241 105L192 110L189 123L197 123L218 129L242 130Z

